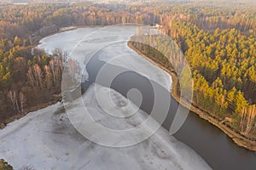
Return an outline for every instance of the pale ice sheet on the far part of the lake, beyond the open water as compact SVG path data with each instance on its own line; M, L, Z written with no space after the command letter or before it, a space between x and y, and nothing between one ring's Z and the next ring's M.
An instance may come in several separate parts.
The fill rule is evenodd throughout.
M55 48L61 48L69 53L72 59L77 60L83 70L88 60L102 50L99 56L102 61L136 71L150 80L159 82L170 91L170 75L127 46L126 42L135 33L136 27L81 28L45 37L40 41L38 48L44 48L48 53ZM86 75L86 69L84 74Z

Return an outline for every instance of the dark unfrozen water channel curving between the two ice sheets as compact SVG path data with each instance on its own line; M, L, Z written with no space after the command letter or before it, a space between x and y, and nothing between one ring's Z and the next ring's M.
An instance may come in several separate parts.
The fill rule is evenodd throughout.
M100 52L99 52L100 54ZM99 60L98 55L90 59L86 65L86 70L89 73L89 81L82 83L82 90L85 91L92 82L96 81L98 71L106 63ZM122 68L116 65L105 65L104 77L106 82L108 77L114 71L121 71ZM100 82L104 86L104 80ZM169 92L161 87L157 82L155 86L161 92L165 91L165 95L170 95ZM154 90L146 77L134 71L124 71L115 77L111 84L111 88L126 96L131 88L137 88L143 94L143 103L140 109L150 113L154 104ZM162 101L165 102L164 96ZM162 124L167 130L170 129L173 117L176 114L178 103L175 99L171 100L170 110L166 121ZM186 108L183 108L186 110ZM183 123L174 137L184 144L188 144L195 150L213 169L256 169L256 154L237 146L231 139L225 135L217 127L212 126L209 122L202 120L193 112L189 112L189 116Z

